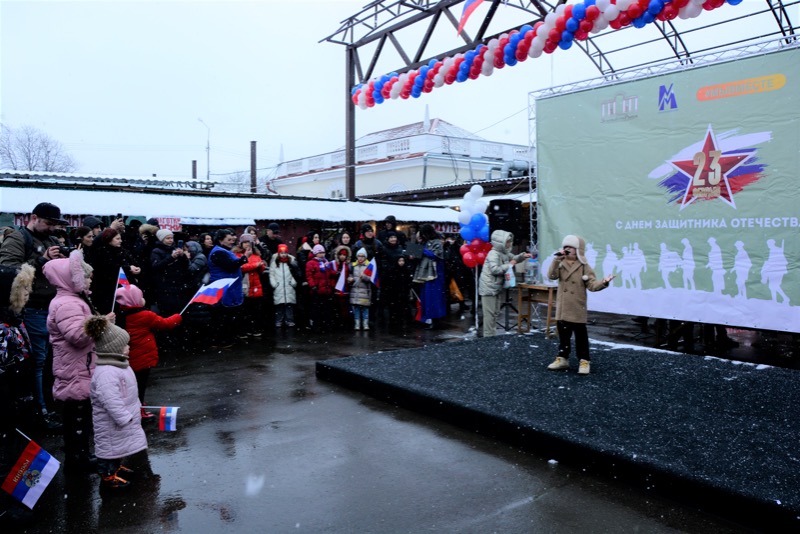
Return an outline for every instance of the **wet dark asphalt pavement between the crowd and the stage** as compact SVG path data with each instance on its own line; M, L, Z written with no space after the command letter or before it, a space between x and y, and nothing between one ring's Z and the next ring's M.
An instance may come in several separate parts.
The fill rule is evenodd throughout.
M179 406L178 431L147 429L142 476L100 495L63 470L25 532L747 532L651 492L550 461L317 381L318 360L460 341L446 328L250 338L168 353L148 404ZM590 336L592 330L590 329ZM60 438L42 445L61 457Z

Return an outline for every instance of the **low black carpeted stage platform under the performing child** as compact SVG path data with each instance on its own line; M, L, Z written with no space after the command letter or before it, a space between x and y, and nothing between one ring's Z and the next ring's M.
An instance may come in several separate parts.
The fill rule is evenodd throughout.
M592 341L545 367L541 333L317 362L317 376L620 477L759 530L800 527L800 375Z

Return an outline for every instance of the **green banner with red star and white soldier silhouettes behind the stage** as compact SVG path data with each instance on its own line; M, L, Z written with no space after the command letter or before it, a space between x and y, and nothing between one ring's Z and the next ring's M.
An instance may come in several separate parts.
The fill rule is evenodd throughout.
M580 235L616 275L590 309L800 331L798 65L793 48L537 100L539 249Z

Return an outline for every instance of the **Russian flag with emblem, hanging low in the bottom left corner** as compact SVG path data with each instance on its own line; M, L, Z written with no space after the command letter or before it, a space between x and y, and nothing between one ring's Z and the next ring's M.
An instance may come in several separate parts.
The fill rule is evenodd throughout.
M19 431L17 431L19 432ZM22 432L20 432L22 434ZM22 434L24 436L24 434ZM27 436L25 436L27 438ZM42 496L61 464L33 441L28 441L22 455L8 473L3 490L30 509Z

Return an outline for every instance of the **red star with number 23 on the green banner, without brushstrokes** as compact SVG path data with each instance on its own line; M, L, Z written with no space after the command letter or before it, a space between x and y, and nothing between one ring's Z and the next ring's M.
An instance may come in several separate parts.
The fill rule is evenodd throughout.
M719 150L714 131L708 125L703 148L690 160L670 161L669 163L688 178L686 192L681 200L681 209L697 199L713 200L720 198L734 208L731 184L728 175L744 163L749 154L725 153Z

